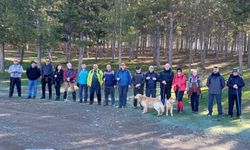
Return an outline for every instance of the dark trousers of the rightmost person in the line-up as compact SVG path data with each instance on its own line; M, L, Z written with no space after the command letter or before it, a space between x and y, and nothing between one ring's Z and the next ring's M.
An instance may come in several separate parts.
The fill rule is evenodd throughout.
M237 117L241 115L241 94L239 94L239 102L236 94L228 95L228 115L233 116L234 103L236 103ZM238 105L239 103L239 105Z

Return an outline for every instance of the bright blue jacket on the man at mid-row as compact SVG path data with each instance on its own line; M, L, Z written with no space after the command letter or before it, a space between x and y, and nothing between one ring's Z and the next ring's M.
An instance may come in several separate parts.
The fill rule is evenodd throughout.
M120 80L118 80L118 78L120 78ZM119 69L116 72L115 79L117 80L119 86L130 85L131 84L130 71L128 69L125 69L125 70Z

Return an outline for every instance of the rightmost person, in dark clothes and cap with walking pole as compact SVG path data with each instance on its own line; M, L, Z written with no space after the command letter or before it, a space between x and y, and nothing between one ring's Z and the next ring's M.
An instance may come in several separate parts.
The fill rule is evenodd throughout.
M236 103L237 117L241 117L242 88L245 86L244 79L238 69L233 69L227 81L228 86L228 116L233 117L234 103Z

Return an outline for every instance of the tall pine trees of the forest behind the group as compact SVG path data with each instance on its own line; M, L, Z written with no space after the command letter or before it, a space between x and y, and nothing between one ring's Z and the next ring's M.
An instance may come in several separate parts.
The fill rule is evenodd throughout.
M5 53L26 51L41 59L65 55L111 58L119 63L148 57L160 67L186 54L205 67L208 55L250 68L249 0L0 0L0 71ZM237 55L238 60L231 57Z

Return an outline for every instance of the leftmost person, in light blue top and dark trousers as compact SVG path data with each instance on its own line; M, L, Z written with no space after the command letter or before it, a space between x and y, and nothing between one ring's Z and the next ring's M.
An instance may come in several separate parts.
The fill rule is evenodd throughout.
M8 72L10 73L9 98L13 96L15 86L17 88L18 97L21 97L21 77L22 77L23 67L19 63L18 59L13 60L13 64L9 67Z

